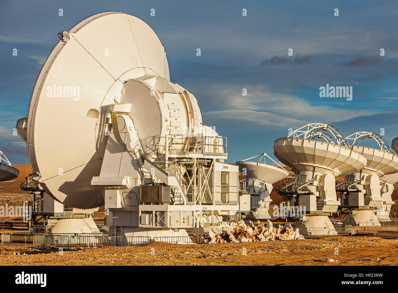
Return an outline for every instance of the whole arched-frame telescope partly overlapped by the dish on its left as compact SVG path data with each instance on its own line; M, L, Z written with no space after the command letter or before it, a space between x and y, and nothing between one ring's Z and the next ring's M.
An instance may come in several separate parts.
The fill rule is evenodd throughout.
M359 145L368 138L377 142L378 149ZM398 172L398 156L382 136L372 132L355 132L347 136L347 141L354 151L367 158L367 163L361 170L347 175L343 184L338 185L339 191L345 193L345 205L353 209L353 216L345 222L357 226L379 226L379 220L390 219L388 215L394 204L391 199L393 185L380 181L380 178Z

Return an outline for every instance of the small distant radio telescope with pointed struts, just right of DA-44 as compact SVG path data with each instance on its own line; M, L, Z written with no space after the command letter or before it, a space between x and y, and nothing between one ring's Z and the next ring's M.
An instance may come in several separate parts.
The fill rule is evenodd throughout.
M260 157L257 162L249 161ZM265 163L265 158L268 157L275 164L275 162L266 153L261 153L254 157L238 161L235 164L239 165L239 171L245 175L246 191L250 194L250 210L255 218L270 219L269 204L272 202L270 197L272 185L279 180L287 177L289 172L286 171L281 165L275 167ZM264 158L264 163L260 163Z

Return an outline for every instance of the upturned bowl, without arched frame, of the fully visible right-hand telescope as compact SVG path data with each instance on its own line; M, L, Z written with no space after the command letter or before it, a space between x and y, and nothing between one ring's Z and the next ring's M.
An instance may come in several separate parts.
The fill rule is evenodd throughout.
M319 171L345 175L365 167L366 158L347 147L302 138L279 138L274 142L274 155L298 171Z

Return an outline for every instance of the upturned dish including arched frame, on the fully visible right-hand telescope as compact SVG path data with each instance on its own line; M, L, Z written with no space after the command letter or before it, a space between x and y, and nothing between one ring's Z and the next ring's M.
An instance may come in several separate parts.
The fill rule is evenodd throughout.
M279 161L298 171L331 173L335 177L366 165L366 158L348 147L347 140L336 127L321 123L307 124L275 140L274 154Z

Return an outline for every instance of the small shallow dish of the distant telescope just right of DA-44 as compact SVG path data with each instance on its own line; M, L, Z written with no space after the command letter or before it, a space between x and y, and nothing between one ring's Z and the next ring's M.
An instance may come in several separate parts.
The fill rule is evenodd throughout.
M243 173L243 169L246 168L246 177L260 179L271 184L289 175L289 172L286 170L264 163L238 161L235 164L239 165L239 171L241 173Z

